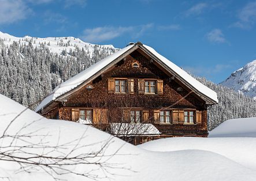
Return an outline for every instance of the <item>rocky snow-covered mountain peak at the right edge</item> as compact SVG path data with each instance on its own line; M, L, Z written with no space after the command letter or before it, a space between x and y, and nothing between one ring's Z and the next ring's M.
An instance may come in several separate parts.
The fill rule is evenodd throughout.
M220 84L256 100L256 60L234 71Z

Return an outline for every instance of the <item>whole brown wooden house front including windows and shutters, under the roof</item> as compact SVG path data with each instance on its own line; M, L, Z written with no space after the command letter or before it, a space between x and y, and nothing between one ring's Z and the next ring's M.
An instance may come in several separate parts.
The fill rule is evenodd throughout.
M161 133L135 135L130 142L136 145L166 137L207 137L208 105L176 75L137 48L39 113L75 122L87 119L106 131L109 123L151 123Z

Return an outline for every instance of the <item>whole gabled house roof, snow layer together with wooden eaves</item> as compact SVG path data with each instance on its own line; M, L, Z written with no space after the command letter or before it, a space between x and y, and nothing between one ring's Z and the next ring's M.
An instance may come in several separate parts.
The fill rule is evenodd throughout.
M58 85L49 96L47 96L42 103L38 105L36 108L36 112L46 107L53 101L58 101L63 99L64 97L71 94L71 91L75 89L80 89L82 86L88 84L92 79L98 77L103 72L105 72L109 67L116 64L121 59L125 58L132 51L140 48L142 51L146 52L146 54L153 57L154 61L157 61L160 65L162 65L167 71L169 71L173 76L179 79L181 82L184 82L192 91L194 91L198 96L202 97L202 99L206 100L207 104L216 104L218 103L217 93L207 86L203 85L201 82L195 80L195 78L191 77L187 72L181 69L179 66L170 62L164 56L158 54L153 48L143 45L138 42L135 44L131 44L112 55L107 56L101 61L95 63L94 65L88 67L86 70L81 71L76 76L70 78L69 80L63 82Z

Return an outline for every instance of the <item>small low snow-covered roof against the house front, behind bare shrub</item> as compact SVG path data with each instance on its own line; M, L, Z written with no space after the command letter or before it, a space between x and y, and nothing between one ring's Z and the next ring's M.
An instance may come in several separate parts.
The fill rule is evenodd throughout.
M118 136L161 134L151 123L109 123L109 132Z

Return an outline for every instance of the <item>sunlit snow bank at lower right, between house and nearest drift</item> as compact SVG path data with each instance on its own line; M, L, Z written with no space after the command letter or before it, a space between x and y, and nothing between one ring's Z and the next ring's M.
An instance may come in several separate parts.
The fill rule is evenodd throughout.
M256 172L256 138L196 138L177 137L157 139L138 145L154 152L205 150L227 157ZM243 180L243 179L242 179Z

